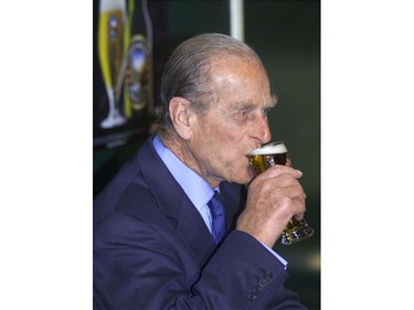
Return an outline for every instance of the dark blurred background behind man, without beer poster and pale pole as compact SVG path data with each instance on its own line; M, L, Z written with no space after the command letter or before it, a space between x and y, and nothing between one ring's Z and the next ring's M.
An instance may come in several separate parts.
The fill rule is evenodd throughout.
M134 2L139 19L141 1ZM169 54L194 34L231 34L229 0L148 1L147 9L152 28L152 71L150 83L146 83L153 89L152 101L117 128L102 128L99 115L107 115L102 107L108 103L97 57L99 1L94 1L94 196L148 137ZM278 96L268 117L273 140L286 142L293 164L304 172L306 218L316 231L314 237L298 244L276 244L275 250L289 263L287 288L296 291L309 309L320 309L320 1L245 0L243 12L244 41L261 56ZM131 25L132 32L134 28L145 25Z

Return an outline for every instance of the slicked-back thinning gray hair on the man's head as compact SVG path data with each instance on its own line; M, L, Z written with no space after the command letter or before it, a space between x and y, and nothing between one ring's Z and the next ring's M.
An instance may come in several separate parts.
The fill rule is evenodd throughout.
M258 55L245 43L220 33L204 33L181 43L167 62L161 81L161 106L158 124L161 130L171 127L169 103L173 97L191 101L191 108L202 114L214 100L211 87L211 60L227 56L256 60Z

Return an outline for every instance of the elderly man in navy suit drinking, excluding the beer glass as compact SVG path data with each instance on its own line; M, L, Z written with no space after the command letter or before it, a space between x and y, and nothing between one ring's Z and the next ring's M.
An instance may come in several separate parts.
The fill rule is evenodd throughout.
M158 132L94 203L94 308L306 309L272 249L304 216L301 172L252 181L276 104L256 53L223 34L183 42L161 103Z

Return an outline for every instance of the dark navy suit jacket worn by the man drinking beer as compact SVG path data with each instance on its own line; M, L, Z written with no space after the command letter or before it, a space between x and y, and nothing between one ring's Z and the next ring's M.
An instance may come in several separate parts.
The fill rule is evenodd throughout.
M243 189L221 184L230 227ZM214 244L152 139L94 202L94 309L305 309L286 277L246 233Z

